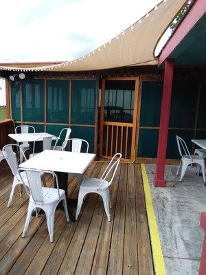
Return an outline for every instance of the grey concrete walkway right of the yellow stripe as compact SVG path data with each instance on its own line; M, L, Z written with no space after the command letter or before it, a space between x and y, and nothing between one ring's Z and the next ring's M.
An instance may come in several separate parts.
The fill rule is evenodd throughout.
M167 274L196 275L203 245L200 216L206 211L206 186L195 168L187 168L183 181L176 170L177 166L166 166L165 179L174 187L155 188L155 165L146 165Z

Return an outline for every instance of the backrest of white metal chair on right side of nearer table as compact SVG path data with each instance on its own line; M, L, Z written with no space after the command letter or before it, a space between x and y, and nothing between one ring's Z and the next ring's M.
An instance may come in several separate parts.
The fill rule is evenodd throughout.
M117 158L117 159L116 159ZM110 181L108 181L108 186L111 186L112 182L113 182L113 178L115 177L115 173L117 172L117 168L119 166L119 162L120 159L122 158L122 154L120 153L116 153L113 158L111 159L111 161L109 162L108 166L106 167L106 169L104 170L104 173L102 174L102 177L100 177L102 179L102 183L100 184L99 188L102 186L104 180L106 180L106 178L108 177L108 175L111 173L111 171L113 170L113 174L111 176ZM115 162L113 162L115 160Z

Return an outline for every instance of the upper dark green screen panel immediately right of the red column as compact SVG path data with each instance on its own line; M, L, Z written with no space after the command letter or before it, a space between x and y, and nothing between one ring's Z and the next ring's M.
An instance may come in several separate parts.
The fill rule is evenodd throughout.
M198 83L176 81L172 89L170 127L194 128Z

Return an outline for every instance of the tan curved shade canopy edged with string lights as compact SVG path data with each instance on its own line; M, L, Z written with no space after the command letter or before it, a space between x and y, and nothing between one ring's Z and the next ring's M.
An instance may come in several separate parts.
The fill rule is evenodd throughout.
M126 67L131 65L156 64L154 52L161 35L173 21L176 14L187 1L164 0L151 10L145 17L141 18L130 28L119 34L114 39L102 45L93 52L77 58L54 65L41 65L36 67L32 63L26 66L18 63L5 65L7 68L18 67L26 70L46 71L89 71L98 69L111 69L115 67ZM0 65L0 69L5 69Z

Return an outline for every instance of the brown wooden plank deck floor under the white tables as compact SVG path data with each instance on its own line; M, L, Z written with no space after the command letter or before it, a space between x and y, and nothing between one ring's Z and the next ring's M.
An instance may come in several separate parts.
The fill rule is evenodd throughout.
M94 162L86 174L98 177L105 165ZM49 243L45 215L32 218L26 238L21 237L28 200L26 194L19 197L16 188L12 206L6 207L11 182L12 174L1 162L0 274L154 274L139 164L119 165L111 186L111 222L102 199L91 194L74 223L56 211L54 243ZM52 179L47 179L51 184ZM78 197L74 178L69 194Z

